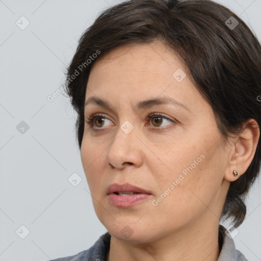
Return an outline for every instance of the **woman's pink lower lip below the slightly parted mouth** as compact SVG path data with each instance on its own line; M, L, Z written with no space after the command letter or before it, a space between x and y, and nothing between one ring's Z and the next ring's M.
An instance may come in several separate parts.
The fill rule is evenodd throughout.
M151 195L150 194L134 194L134 195L129 195L129 196L121 196L121 195L116 195L114 193L109 194L109 200L110 202L115 205L115 206L121 206L121 207L128 207L128 206L133 206L142 200L145 200L149 198Z

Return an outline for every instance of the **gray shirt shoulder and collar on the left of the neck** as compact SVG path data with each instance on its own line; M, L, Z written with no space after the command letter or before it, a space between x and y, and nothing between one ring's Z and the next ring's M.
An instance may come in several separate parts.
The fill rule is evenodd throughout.
M111 235L109 232L103 234L88 250L84 250L76 255L52 259L51 261L88 261L88 260L106 260L110 249Z

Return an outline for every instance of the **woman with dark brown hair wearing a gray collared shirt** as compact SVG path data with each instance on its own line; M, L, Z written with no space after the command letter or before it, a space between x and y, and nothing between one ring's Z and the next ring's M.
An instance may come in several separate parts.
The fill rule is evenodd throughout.
M68 260L247 260L260 167L261 46L210 0L127 1L82 35L67 93L95 213L108 229Z

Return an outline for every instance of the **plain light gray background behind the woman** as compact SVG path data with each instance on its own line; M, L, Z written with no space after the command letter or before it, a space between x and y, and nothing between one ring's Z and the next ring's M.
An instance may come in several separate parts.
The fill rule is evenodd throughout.
M60 94L50 102L47 97L62 85L82 32L99 12L120 2L0 1L1 261L74 255L107 231L93 209L69 99ZM260 40L261 0L219 2L240 15ZM21 16L30 21L24 30L16 25ZM16 128L21 121L30 127L24 134ZM68 181L72 173L82 178L76 187ZM260 191L259 179L234 238L251 261L261 258ZM24 239L21 225L30 230Z

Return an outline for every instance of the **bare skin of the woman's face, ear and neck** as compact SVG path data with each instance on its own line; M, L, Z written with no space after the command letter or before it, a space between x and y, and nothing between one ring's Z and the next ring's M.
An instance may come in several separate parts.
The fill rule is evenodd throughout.
M181 82L172 76L178 68L187 74ZM121 46L95 61L86 100L91 96L113 107L86 106L81 149L95 213L112 236L107 260L217 261L221 210L230 182L239 178L232 171L242 175L250 165L259 138L257 123L252 120L256 125L246 124L240 136L222 146L212 107L177 56L158 41ZM131 106L163 96L175 98L190 111L173 105L141 110ZM104 115L103 122L94 121L92 128L87 120L97 113ZM151 113L169 120L146 120ZM126 120L134 127L129 134L120 128ZM204 159L152 205L201 154ZM114 206L107 188L115 182L128 182L152 195L131 207ZM121 233L125 226L133 232L128 238Z

